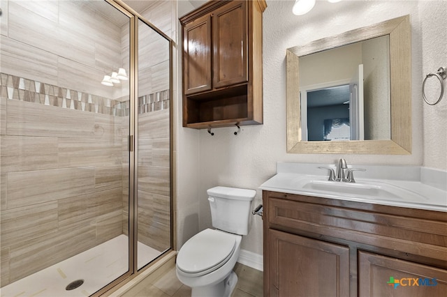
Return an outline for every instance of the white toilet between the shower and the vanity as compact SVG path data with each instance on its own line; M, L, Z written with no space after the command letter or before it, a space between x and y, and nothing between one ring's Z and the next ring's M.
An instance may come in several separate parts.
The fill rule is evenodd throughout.
M186 241L177 254L176 273L191 296L230 296L237 284L233 268L242 235L251 227L255 190L214 187L207 190L212 226Z

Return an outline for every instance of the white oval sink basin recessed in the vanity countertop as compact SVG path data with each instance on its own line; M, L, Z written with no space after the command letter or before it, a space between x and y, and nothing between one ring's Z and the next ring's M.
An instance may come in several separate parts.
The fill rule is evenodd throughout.
M418 195L416 192L400 188L396 185L381 183L378 181L346 183L339 181L307 181L301 178L295 183L297 188L325 192L333 195L344 195L353 197L371 197L374 199L398 199L405 201L423 201L426 197Z

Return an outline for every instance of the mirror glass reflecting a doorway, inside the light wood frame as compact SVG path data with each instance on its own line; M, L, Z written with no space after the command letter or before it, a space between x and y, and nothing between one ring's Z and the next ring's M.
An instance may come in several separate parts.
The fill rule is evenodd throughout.
M299 60L302 141L390 139L389 35Z

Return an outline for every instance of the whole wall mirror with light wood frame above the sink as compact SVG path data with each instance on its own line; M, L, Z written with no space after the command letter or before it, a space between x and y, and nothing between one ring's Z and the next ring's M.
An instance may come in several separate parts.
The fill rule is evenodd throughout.
M408 15L289 48L286 64L288 153L411 153Z

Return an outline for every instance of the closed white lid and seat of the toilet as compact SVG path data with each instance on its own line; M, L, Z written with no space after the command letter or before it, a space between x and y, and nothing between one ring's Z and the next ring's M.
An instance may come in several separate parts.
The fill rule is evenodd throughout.
M215 271L235 251L237 235L205 229L186 241L177 255L177 268L190 276Z

